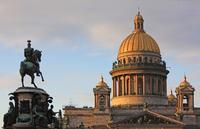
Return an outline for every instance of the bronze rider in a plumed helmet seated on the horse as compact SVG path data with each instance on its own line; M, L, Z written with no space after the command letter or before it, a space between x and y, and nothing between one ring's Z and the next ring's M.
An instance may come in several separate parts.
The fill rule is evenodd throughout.
M40 68L39 63L38 63L38 61L33 60L34 49L31 47L31 40L28 40L27 42L28 42L27 48L24 49L24 56L26 58L24 60L24 62L32 62L33 64L35 64L36 65L36 75L40 76L39 75L39 71L40 71L39 70L39 68Z

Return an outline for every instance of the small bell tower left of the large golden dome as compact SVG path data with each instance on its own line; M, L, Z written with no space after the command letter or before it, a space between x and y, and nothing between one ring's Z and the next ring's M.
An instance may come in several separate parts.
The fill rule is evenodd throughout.
M101 76L100 82L96 84L94 92L94 111L98 113L109 113L110 111L110 92L111 89L104 82Z

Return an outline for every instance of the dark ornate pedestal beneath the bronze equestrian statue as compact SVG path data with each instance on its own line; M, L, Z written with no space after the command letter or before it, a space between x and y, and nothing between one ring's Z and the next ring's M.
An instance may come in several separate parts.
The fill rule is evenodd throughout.
M48 129L48 107L53 98L45 90L19 87L9 95L15 106L11 106L12 109L9 110L12 112L8 112L6 116L8 121L14 120L14 123L12 126L6 126L6 129Z

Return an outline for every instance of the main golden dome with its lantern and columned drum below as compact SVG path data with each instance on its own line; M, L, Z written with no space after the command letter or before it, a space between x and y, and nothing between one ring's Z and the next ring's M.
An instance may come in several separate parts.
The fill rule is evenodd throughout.
M168 73L159 46L144 31L144 19L138 12L134 18L134 31L122 41L110 72L112 106L167 105Z

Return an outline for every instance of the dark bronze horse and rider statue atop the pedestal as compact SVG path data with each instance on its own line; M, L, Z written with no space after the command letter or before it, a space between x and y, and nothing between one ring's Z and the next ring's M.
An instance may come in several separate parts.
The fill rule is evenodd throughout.
M34 50L31 47L31 40L27 40L27 48L24 49L24 57L25 60L20 64L20 75L22 87L24 87L24 76L27 74L31 77L31 84L37 88L34 79L35 73L37 76L41 76L42 81L44 81L42 72L40 71L39 62L41 62L42 51Z

